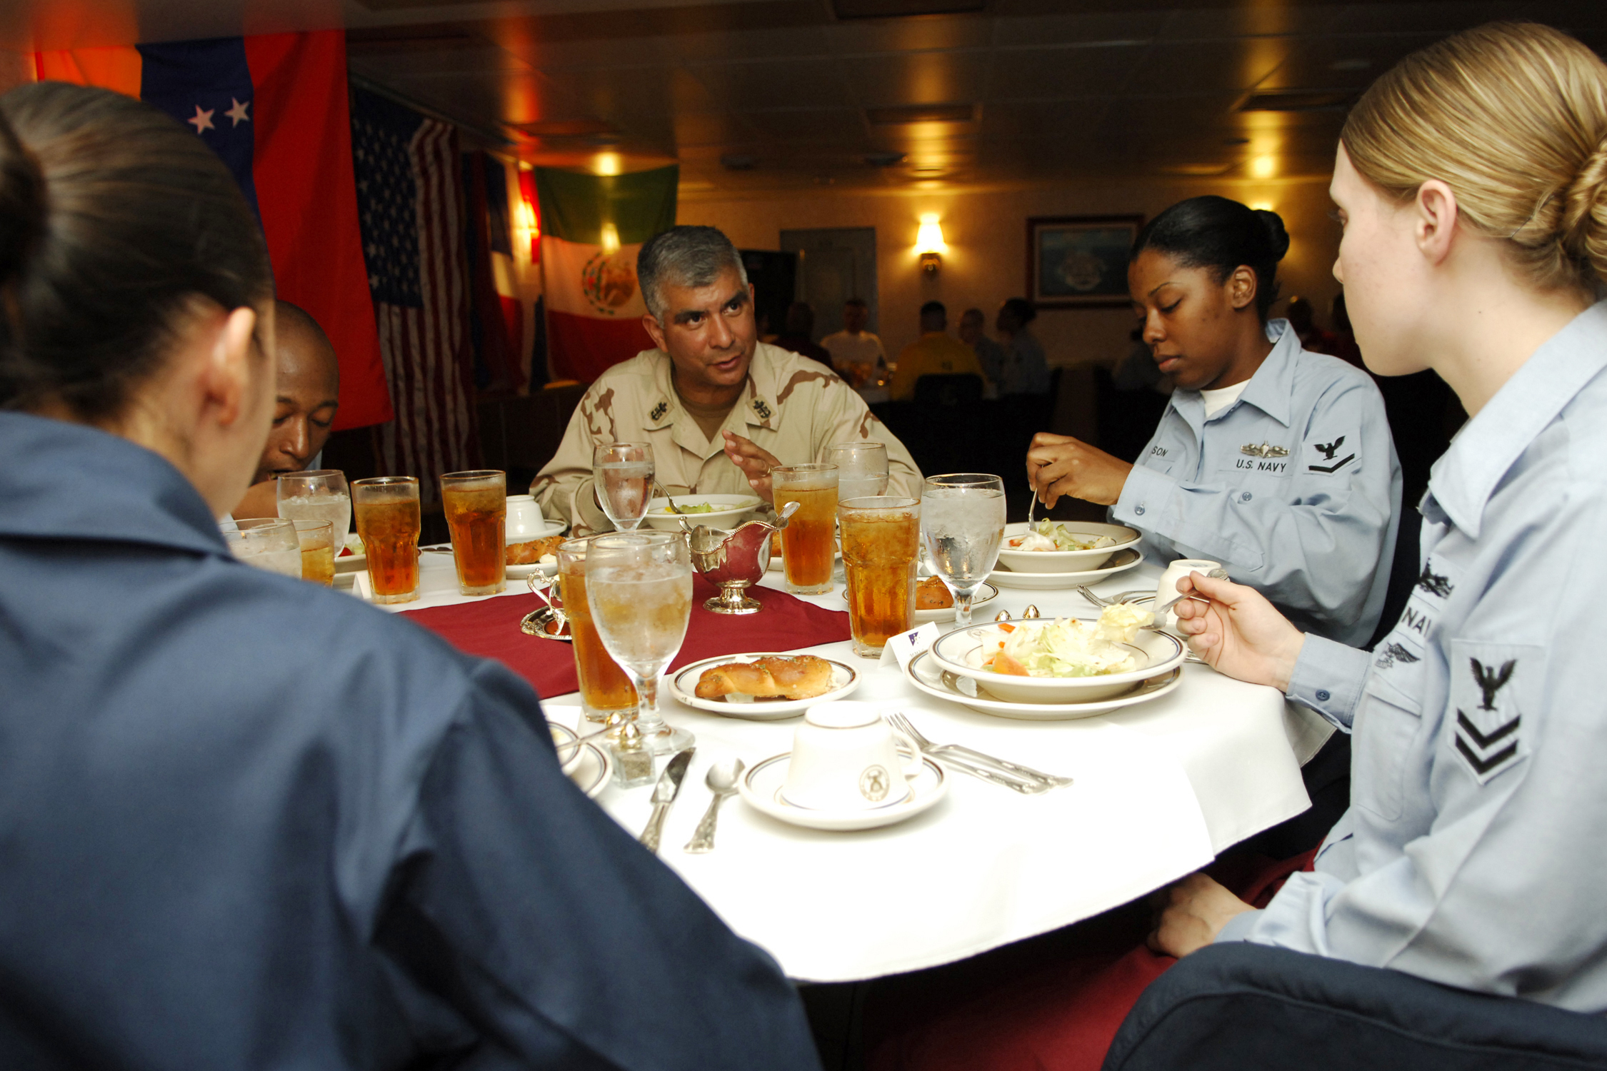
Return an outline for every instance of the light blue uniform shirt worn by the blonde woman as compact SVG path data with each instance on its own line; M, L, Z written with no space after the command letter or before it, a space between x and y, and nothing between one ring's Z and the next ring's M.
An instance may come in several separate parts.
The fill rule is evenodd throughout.
M1290 697L1355 729L1351 808L1218 939L1607 1012L1604 371L1607 302L1433 466L1395 629L1306 639Z

